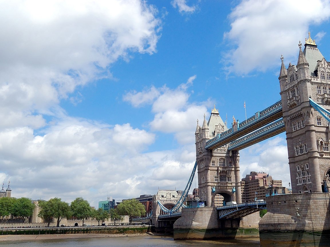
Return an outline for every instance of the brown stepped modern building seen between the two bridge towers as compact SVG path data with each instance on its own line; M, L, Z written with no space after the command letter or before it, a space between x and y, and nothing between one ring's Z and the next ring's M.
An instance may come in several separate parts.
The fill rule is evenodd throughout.
M266 199L267 196L287 194L289 190L282 186L282 180L274 180L268 173L250 172L242 179L242 202Z

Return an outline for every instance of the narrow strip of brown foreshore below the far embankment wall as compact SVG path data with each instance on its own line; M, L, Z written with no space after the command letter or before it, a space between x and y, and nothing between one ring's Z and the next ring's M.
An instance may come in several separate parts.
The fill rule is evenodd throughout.
M69 239L96 237L134 237L146 236L148 233L86 233L86 234L43 234L43 235L0 235L0 241L39 240L39 239Z

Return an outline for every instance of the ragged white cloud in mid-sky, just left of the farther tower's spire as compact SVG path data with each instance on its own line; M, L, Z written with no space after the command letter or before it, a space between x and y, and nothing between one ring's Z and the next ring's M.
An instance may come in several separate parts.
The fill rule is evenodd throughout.
M207 108L211 102L195 104L189 102L189 86L196 79L196 75L190 76L186 83L180 84L175 89L166 86L155 88L151 86L142 92L129 92L123 96L125 101L138 107L142 104L151 104L154 119L149 123L151 130L163 133L174 133L181 144L194 142L196 120L208 113Z

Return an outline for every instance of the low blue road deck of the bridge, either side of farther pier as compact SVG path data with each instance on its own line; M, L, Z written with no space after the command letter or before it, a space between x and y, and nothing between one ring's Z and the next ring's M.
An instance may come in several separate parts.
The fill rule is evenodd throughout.
M228 206L217 207L218 219L237 219L243 218L248 214L267 209L266 202L248 202ZM181 217L181 212L162 214L158 216L159 221L177 220Z

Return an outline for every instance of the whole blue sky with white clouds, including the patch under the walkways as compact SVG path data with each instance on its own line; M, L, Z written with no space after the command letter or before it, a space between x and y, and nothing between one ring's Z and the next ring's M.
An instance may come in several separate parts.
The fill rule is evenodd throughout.
M330 59L329 1L0 4L0 182L16 198L97 207L183 190L197 119L215 105L242 122L278 101L280 57L296 64L309 31ZM240 157L241 178L288 187L284 133Z

